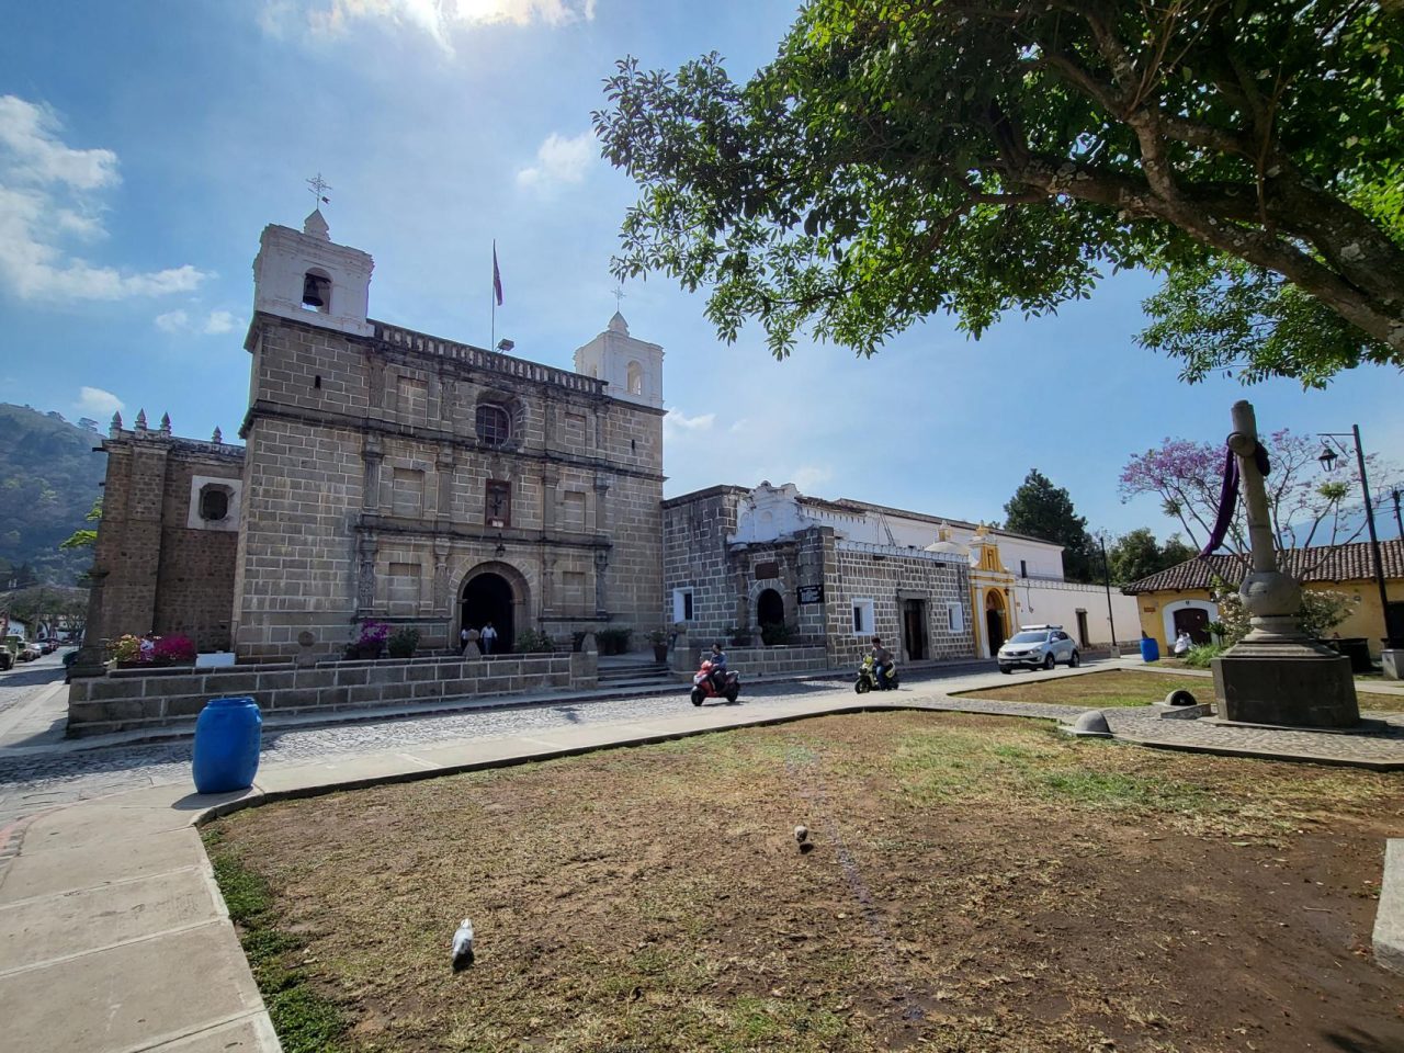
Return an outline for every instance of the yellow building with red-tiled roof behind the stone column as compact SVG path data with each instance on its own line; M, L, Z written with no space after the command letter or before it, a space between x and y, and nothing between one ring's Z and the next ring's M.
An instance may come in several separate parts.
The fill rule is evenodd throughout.
M1382 541L1386 595L1396 632L1404 630L1404 541ZM1356 600L1351 615L1337 626L1342 637L1363 637L1370 654L1379 657L1384 630L1380 590L1375 580L1375 557L1365 542L1320 545L1279 553L1282 570L1304 590L1345 592ZM1247 564L1238 556L1217 553L1185 560L1168 570L1132 581L1122 588L1139 605L1139 629L1165 649L1181 632L1196 643L1209 642L1207 625L1219 618L1213 601L1214 580L1237 585Z

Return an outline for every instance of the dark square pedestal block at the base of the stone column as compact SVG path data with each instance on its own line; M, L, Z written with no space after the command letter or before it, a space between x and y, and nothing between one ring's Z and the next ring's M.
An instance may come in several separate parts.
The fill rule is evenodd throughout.
M1360 722L1351 660L1314 640L1254 640L1250 633L1210 665L1224 720L1280 727Z

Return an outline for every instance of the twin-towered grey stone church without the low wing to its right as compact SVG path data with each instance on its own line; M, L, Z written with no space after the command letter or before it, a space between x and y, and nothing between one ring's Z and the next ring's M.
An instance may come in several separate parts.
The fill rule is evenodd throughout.
M270 225L244 448L114 420L90 639L260 661L368 619L421 650L661 623L663 348L616 313L555 369L368 317L371 271L319 211Z

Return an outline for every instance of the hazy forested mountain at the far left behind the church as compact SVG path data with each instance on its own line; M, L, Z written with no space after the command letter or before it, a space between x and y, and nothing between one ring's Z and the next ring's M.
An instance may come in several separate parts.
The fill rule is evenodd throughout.
M107 455L97 421L0 403L0 588L28 566L44 584L77 581L91 549L59 550L102 496Z

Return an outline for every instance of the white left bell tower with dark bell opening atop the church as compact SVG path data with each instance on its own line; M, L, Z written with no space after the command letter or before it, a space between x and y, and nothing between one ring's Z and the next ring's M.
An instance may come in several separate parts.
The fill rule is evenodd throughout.
M373 267L369 253L331 240L322 209L300 232L270 223L254 258L254 310L368 337Z

